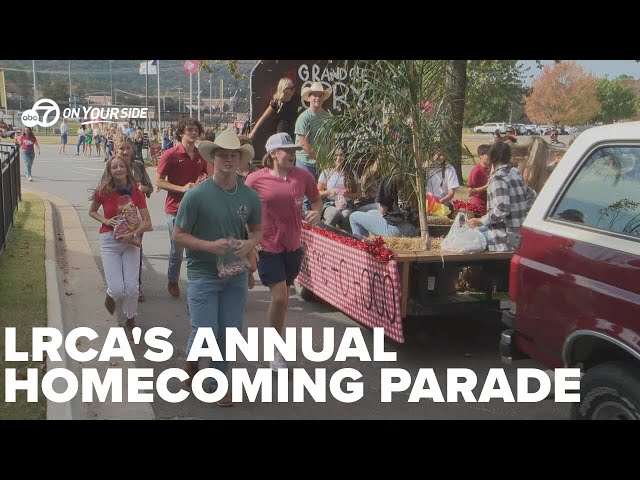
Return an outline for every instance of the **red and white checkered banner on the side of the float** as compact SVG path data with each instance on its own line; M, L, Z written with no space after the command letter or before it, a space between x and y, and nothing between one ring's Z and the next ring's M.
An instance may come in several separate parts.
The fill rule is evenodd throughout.
M302 230L304 257L297 282L352 319L383 327L385 335L404 342L400 315L400 274L391 260L380 263L361 250Z

